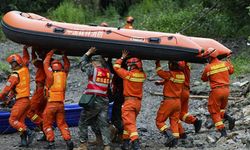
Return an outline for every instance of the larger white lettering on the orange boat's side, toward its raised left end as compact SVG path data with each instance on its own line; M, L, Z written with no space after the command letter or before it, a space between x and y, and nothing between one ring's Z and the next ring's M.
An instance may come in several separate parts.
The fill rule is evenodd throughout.
M70 31L66 30L66 35L75 35L75 36L83 36L83 37L93 37L93 38L102 38L102 31Z

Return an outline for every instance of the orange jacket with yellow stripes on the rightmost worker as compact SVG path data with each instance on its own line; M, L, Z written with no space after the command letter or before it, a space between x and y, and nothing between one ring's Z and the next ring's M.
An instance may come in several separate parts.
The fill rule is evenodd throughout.
M211 89L219 86L229 85L229 75L233 74L234 68L230 61L220 61L213 59L210 64L206 65L201 80L210 82Z

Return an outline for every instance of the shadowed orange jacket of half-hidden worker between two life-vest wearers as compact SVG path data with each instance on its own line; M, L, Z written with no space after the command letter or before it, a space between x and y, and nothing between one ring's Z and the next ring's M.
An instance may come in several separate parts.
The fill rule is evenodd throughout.
M35 51L32 50L32 63L34 64L34 66L37 68L36 71L36 83L40 83L40 84L45 84L45 79L46 79L46 74L44 72L44 68L43 68L43 61L42 60L38 60L37 56L35 54Z

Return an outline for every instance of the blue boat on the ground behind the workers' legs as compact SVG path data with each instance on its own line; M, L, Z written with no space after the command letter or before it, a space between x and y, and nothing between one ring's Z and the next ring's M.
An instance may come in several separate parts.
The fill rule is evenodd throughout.
M110 103L108 110L109 120L111 120L112 107L113 103ZM81 111L82 107L79 107L78 104L65 105L65 119L69 127L78 126ZM10 112L0 110L0 134L16 132L16 129L12 128L9 124L9 116ZM26 119L25 123L31 129L36 127L35 124L33 124L29 119Z

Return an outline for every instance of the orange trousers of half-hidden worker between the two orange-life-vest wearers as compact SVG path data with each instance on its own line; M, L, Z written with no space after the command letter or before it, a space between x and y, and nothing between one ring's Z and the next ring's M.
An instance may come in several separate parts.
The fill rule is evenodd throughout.
M42 113L46 106L46 99L44 97L44 89L37 88L30 102L30 109L27 117L36 125L40 126L43 122Z

